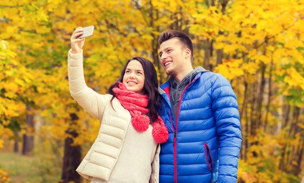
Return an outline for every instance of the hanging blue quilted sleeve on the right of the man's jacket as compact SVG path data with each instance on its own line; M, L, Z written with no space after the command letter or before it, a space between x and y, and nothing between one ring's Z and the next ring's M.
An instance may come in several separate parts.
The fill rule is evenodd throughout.
M217 182L232 183L237 181L242 144L239 107L229 81L220 74L215 77L211 97L220 148Z

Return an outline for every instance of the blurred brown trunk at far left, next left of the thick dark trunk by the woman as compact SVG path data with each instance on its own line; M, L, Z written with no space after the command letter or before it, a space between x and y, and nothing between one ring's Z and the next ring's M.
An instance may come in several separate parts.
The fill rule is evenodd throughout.
M31 111L30 106L26 106L27 111ZM26 124L29 126L31 129L34 129L34 116L32 114L27 114L26 115ZM30 131L31 133L31 131ZM23 147L22 147L22 155L30 155L34 149L34 137L33 135L29 134L23 134Z

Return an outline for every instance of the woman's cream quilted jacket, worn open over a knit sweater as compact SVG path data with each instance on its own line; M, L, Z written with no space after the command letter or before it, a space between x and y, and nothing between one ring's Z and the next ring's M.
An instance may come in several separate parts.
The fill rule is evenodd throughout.
M100 95L86 85L82 52L75 55L69 51L68 79L72 98L101 122L94 144L76 171L87 179L95 177L107 181L120 157L128 126L132 125L130 112L117 98L112 101L113 110L109 103L111 95ZM149 182L159 181L159 153L158 145L151 163Z

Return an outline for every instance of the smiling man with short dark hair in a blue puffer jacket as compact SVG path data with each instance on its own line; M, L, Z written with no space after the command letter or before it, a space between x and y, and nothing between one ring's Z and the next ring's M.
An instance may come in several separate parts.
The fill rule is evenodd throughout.
M236 182L242 143L238 102L218 73L192 67L193 44L183 32L159 38L168 75L159 87L169 139L161 145L160 182Z

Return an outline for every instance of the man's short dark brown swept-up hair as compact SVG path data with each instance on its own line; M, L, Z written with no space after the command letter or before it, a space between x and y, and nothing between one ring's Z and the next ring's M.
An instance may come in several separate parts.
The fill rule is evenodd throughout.
M182 49L189 49L191 51L191 62L193 60L193 44L189 36L187 36L185 33L182 31L178 30L166 30L161 33L160 38L159 38L159 43L162 44L164 41L172 39L172 38L177 38L181 44L182 44Z

